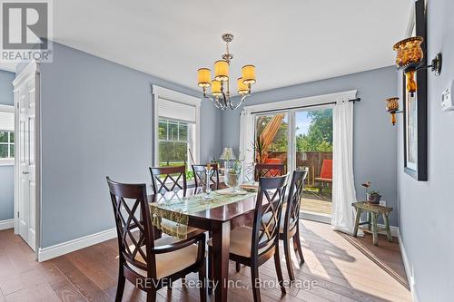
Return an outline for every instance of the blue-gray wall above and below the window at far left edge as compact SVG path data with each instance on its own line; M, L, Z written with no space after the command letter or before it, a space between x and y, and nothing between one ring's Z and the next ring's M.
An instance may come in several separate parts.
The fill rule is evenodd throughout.
M0 104L14 105L15 73L0 70ZM15 211L15 166L0 166L0 221L13 219Z

